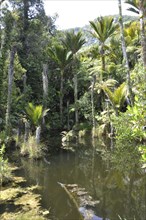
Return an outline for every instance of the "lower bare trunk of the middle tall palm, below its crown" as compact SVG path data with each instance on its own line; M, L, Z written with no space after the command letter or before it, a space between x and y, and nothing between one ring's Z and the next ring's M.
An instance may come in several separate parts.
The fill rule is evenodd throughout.
M78 116L78 79L77 74L74 74L74 102L75 102L75 123L76 125L79 123L79 116Z

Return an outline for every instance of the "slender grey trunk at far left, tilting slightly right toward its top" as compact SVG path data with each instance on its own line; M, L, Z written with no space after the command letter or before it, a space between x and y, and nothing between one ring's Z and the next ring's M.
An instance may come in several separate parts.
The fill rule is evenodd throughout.
M9 132L8 130L10 126L10 112L11 112L15 53L16 53L16 46L13 46L10 51L10 64L9 64L9 69L8 69L8 98L7 98L7 109L6 109L6 132Z

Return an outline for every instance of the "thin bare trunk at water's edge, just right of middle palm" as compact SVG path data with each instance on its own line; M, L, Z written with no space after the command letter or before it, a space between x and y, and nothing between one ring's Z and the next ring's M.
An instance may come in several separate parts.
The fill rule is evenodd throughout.
M92 76L92 82L91 82L91 106L92 106L92 124L93 124L93 131L92 131L92 137L95 137L95 107L94 107L94 86L95 86L96 76Z

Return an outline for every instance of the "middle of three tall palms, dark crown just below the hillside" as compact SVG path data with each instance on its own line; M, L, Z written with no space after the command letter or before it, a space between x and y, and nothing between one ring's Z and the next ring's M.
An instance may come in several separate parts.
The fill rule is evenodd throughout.
M77 53L81 47L85 44L85 39L82 37L82 33L78 32L75 34L74 30L66 33L66 38L63 41L64 45L72 52L73 54L73 70L74 70L74 102L75 102L75 123L76 125L79 122L78 116L78 79L77 79Z

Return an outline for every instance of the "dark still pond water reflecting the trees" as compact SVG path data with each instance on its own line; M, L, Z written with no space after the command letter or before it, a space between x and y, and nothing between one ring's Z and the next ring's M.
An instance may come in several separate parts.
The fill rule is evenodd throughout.
M115 167L106 151L99 153L98 147L78 145L75 151L60 150L46 158L50 164L22 159L29 184L42 187L42 206L50 210L51 219L79 220L76 207L58 182L78 184L99 201L95 213L101 219L145 220L145 173L138 166L131 165L128 171L124 165Z

